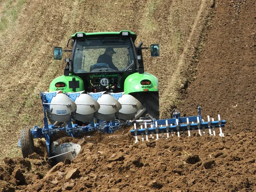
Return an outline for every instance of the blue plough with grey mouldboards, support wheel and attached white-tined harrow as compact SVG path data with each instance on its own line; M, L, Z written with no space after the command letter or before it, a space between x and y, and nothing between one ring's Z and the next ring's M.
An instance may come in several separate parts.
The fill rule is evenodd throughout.
M131 120L134 114L141 109L140 102L130 95L123 93L58 93L58 92L40 92L42 105L44 108L44 126L34 126L32 129L23 128L20 131L19 147L21 148L23 157L26 158L29 154L34 152L34 138L44 138L46 140L47 152L49 159L56 161L64 161L65 159L72 160L81 150L81 146L76 143L65 143L61 139L55 140L56 136L64 133L65 136L78 137L80 134L88 133L89 131L102 131L104 133L113 133L116 129L123 125L131 125ZM123 111L121 110L124 109ZM221 128L224 127L226 121L221 120L218 115L218 121L204 122L201 118L201 108L198 108L198 116L180 117L180 113L175 111L172 113L171 119L150 119L150 120L136 120L134 129L131 134L135 136L136 143L138 136L141 135L142 141L148 140L148 134L156 134L156 139L159 139L159 134L164 137L169 133L174 135L177 132L180 137L180 131L185 134L188 131L198 133L201 135L201 130L205 134L205 129L209 129L210 135L215 135L215 127L219 127L219 135L224 137ZM118 116L118 120L115 117ZM96 121L95 117L101 119ZM49 124L49 122L58 122ZM87 125L78 125L76 120L88 122ZM196 123L194 123L196 122ZM60 126L57 126L61 124ZM140 128L137 128L137 125Z

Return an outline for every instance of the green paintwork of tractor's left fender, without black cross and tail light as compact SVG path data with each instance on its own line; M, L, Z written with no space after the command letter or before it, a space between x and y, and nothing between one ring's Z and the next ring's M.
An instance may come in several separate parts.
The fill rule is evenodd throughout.
M73 90L72 87L69 86L70 81L72 82L73 78L75 78L76 81L79 81L79 88L76 88L75 91ZM55 87L55 84L58 82L64 83L65 87ZM69 76L59 76L53 79L49 86L49 92L58 91L58 90L61 90L63 93L84 91L84 82L80 77L74 76L71 73Z

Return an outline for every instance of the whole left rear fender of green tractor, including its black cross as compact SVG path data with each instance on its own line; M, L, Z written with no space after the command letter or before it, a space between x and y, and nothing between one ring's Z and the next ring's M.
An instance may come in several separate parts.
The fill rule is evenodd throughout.
M56 86L58 83L64 84L58 87ZM53 91L62 91L63 93L84 91L84 81L73 74L69 76L59 76L50 83L49 92Z

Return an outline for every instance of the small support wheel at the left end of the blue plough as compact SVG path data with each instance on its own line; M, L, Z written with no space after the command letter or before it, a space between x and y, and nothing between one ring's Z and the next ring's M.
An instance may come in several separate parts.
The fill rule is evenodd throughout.
M23 128L20 131L20 148L23 158L29 157L34 153L34 140L29 128Z

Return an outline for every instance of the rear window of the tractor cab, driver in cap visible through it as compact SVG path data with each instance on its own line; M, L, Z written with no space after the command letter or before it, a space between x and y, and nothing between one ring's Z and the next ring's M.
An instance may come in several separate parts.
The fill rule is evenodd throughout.
M72 72L79 75L135 71L136 52L131 42L128 36L77 38L73 48Z

